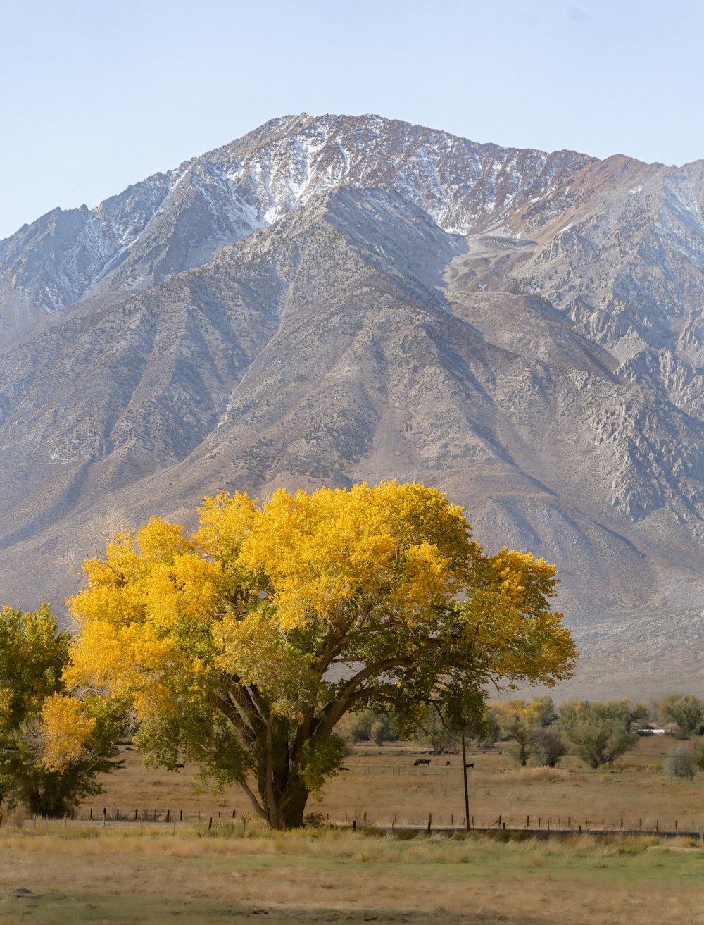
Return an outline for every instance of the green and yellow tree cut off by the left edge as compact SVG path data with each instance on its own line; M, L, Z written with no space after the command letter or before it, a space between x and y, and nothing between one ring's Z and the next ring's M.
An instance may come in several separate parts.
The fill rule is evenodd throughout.
M96 776L121 763L113 760L113 711L102 700L61 696L69 640L46 604L34 612L0 611L0 799L42 816L62 815L100 793ZM52 767L57 750L61 768Z

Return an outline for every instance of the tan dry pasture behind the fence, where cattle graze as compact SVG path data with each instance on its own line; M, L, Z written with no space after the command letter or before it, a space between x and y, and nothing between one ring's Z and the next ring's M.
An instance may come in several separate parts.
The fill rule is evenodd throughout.
M545 768L516 769L501 746L469 749L467 771L469 813L477 828L489 828L499 816L508 828L529 827L619 830L674 830L695 833L704 829L704 774L693 781L677 780L662 771L669 749L681 746L670 736L649 736L638 741L637 750L624 756L621 765L608 771L591 771L578 759L562 759L554 771ZM222 794L194 791L195 768L176 773L147 771L140 756L124 751L126 766L103 779L104 796L94 797L79 810L83 817L108 818L120 810L122 819L153 816L196 820L213 817L225 822L237 810L237 821L251 815L247 798L236 789ZM431 758L428 766L413 766L414 759ZM450 762L447 764L446 762ZM464 824L462 759L457 755L433 758L419 746L389 743L382 748L360 745L345 759L348 771L328 782L321 800L310 799L309 811L321 813L335 823L359 822L367 814L369 824L390 826L426 825L432 814L433 828ZM218 813L220 816L218 817ZM442 822L441 822L442 818ZM540 820L540 823L539 823ZM569 820L569 822L568 822ZM603 820L603 821L602 821Z

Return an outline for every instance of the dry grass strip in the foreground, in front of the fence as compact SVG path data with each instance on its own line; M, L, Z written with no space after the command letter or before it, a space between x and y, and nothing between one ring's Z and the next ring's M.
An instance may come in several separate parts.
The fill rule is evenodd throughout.
M684 839L62 826L0 834L0 925L694 925L704 911L704 851Z

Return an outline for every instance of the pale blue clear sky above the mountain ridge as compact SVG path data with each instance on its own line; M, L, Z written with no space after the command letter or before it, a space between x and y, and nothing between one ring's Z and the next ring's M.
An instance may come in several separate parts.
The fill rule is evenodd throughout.
M701 0L0 0L0 239L276 116L704 157Z

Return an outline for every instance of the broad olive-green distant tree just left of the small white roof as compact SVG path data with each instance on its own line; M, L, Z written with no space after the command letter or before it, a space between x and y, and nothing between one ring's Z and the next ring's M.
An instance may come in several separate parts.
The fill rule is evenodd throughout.
M560 710L559 725L572 743L573 752L591 768L624 755L637 746L638 737L629 733L629 712L624 701L589 703L572 701Z

